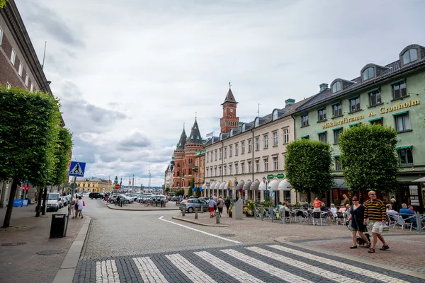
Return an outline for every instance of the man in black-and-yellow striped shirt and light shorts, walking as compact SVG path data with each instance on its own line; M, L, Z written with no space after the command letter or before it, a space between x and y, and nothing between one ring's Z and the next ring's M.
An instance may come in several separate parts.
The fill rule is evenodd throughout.
M369 192L369 198L370 200L365 202L364 224L366 225L367 219L369 219L369 222L372 225L372 246L370 246L368 253L375 253L375 246L378 242L378 238L384 245L380 248L380 250L387 250L390 248L387 243L385 243L384 237L381 235L385 223L387 222L387 212L383 202L376 199L376 192L371 190Z

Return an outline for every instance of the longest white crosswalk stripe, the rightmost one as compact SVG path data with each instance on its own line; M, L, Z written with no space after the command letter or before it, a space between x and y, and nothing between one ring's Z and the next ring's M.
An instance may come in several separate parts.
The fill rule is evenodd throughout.
M339 262L337 260L328 260L327 258L321 258L317 255L311 255L310 253L305 253L305 252L302 252L300 250L293 250L291 248L285 248L283 246L278 246L278 245L273 245L273 246L269 246L269 247L276 248L278 250L282 250L286 253L292 253L293 255L300 255L303 258L308 258L310 260L315 260L315 261L318 261L318 262L326 263L327 265L336 266L336 267L339 267L339 268L342 268L344 270L348 270L348 271L351 271L351 272L354 272L354 273L357 273L357 274L360 274L360 275L364 275L364 276L367 276L367 277L373 277L373 279L375 279L375 280L380 280L380 281L383 281L383 282L398 282L398 283L405 282L404 280L395 279L395 278L387 276L387 275L382 275L378 272L373 272L373 271L369 271L367 269L363 269L363 268L360 268L360 267L355 267L353 265L348 265L346 263Z

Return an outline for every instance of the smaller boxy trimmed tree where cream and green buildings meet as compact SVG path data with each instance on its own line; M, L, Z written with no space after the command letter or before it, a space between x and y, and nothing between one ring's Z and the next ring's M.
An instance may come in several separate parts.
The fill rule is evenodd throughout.
M331 146L322 141L299 139L286 146L285 171L288 182L297 192L319 194L334 185Z

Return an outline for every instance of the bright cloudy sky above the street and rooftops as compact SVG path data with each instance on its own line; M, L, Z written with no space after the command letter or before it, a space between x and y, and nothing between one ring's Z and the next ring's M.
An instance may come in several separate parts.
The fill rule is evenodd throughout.
M425 45L425 1L16 0L86 176L164 183L183 123L220 132Z

